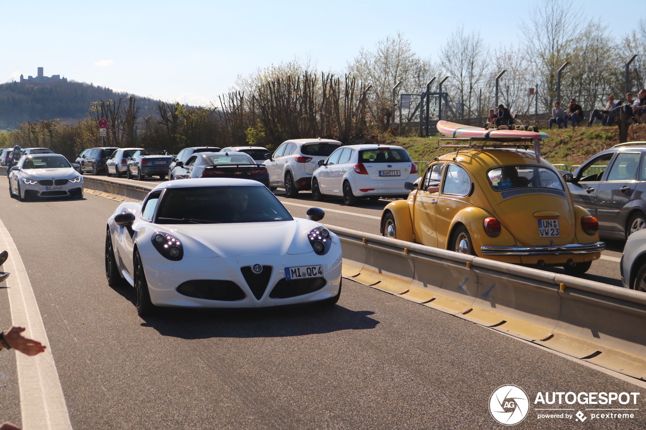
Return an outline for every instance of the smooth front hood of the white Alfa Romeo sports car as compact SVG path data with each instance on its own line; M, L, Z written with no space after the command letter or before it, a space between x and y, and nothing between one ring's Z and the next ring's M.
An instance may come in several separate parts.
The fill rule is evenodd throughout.
M190 224L172 227L183 236L186 255L207 247L218 256L232 257L313 252L307 240L307 232L318 225L314 221L295 219L267 223Z

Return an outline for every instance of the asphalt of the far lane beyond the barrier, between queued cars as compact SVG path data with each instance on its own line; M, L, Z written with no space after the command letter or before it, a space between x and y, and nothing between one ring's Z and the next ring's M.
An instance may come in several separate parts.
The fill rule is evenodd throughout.
M116 179L116 178L112 178ZM116 179L127 183L138 183L134 179ZM160 183L158 178L147 178L144 183L154 186ZM290 199L284 197L284 190L276 190L276 196L282 201L293 216L305 218L307 208L316 206L326 210L326 216L322 222L329 225L337 225L348 229L358 230L366 233L379 233L379 220L382 209L390 201L379 200L360 200L359 205L355 207L344 206L340 198L328 198L326 201L313 201L311 192L302 191L298 193L298 198ZM604 240L603 238L601 240ZM623 241L605 240L607 249L601 252L601 259L592 263L590 270L580 278L589 279L596 282L603 282L609 285L621 287L621 274L619 269L619 260L623 252ZM548 271L565 273L560 267L548 268Z

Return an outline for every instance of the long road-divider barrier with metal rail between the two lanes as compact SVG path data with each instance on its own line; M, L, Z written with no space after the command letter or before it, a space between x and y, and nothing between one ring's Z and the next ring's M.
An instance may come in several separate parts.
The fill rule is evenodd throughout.
M154 188L89 177L85 187L132 198ZM339 236L345 278L646 380L646 294L328 228Z

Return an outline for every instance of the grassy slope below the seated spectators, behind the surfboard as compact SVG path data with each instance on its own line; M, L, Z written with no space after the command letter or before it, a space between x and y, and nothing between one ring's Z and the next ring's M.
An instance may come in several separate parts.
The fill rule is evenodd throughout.
M552 130L541 131L550 135L550 138L543 141L543 156L551 163L565 164L568 167L580 165L599 151L619 143L617 127L578 127L574 130L552 128ZM386 143L406 148L415 161L432 161L437 155L438 137L394 137L387 138ZM630 127L628 140L646 141L646 124Z

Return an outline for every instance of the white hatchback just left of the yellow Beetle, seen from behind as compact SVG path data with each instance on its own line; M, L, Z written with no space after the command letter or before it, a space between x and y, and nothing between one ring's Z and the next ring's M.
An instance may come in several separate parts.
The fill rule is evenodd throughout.
M342 196L346 205L360 197L406 197L405 182L417 179L417 166L402 147L348 145L321 161L312 178L312 197Z

